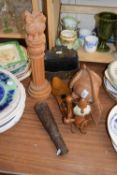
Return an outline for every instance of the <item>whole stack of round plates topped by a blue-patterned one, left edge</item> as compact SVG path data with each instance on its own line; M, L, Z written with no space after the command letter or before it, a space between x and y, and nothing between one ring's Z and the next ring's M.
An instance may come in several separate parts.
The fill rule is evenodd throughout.
M25 108L25 89L9 71L0 69L0 133L13 127Z

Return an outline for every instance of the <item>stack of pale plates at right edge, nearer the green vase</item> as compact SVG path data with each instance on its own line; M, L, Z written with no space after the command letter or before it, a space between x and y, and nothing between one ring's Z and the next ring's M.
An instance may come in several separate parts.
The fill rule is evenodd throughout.
M104 85L110 96L117 100L117 61L110 63L105 70Z

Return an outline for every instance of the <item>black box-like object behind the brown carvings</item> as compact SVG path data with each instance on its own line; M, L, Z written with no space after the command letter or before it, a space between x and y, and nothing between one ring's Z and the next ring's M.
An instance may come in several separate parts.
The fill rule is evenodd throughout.
M45 54L45 70L47 78L59 76L69 78L80 68L79 57L75 50L66 47L54 47Z

